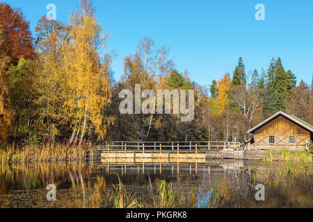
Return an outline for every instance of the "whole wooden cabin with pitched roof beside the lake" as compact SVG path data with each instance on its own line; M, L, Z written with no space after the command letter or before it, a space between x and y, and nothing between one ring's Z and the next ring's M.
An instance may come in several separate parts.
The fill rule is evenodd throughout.
M294 115L278 112L247 133L253 137L246 149L305 151L312 144L313 126Z

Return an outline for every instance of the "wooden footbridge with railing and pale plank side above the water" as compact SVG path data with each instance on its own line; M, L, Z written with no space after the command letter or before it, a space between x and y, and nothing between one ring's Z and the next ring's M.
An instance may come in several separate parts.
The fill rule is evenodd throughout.
M208 151L239 150L238 142L106 142L102 162L205 163Z

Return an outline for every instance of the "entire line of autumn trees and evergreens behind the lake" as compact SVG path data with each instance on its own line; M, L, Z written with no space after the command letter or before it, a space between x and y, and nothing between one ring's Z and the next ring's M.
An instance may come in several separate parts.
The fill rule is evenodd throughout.
M312 85L301 80L296 86L296 75L281 58L261 71L246 70L239 58L233 74L200 85L187 70L176 69L166 46L144 37L124 58L117 82L108 39L90 0L81 0L66 25L42 17L35 33L20 10L0 3L0 143L243 141L249 128L279 110L313 122ZM135 84L155 92L194 89L195 118L120 114L120 91L134 92Z

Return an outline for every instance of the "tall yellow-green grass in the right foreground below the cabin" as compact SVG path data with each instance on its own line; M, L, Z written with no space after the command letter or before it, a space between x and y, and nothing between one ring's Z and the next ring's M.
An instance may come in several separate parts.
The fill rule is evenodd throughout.
M264 167L249 176L222 178L215 207L313 207L312 153L268 151ZM266 189L265 201L255 200L257 184Z

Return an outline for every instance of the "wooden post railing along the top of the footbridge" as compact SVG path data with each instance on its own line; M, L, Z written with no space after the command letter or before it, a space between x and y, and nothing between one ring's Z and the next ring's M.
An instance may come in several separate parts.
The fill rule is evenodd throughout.
M99 148L101 150L142 150L143 147L147 151L175 151L179 148L181 151L194 151L197 147L202 151L220 151L224 148L240 148L239 142L105 142Z

